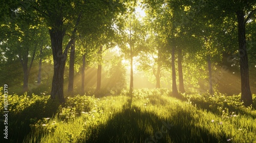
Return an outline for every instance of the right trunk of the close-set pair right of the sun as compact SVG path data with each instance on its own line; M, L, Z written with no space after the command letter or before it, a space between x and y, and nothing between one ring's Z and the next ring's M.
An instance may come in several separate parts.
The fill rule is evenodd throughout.
M182 71L182 49L178 50L178 70L179 70L179 90L181 93L185 92L183 71Z

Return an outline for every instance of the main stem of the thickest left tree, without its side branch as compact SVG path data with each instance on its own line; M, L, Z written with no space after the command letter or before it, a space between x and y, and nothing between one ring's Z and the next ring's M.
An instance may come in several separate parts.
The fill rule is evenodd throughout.
M59 25L61 25L61 23L59 23ZM58 28L60 28L60 26ZM54 63L51 99L58 99L60 103L64 103L63 75L65 70L66 55L62 53L62 40L65 31L52 28L49 29L49 33L51 37Z

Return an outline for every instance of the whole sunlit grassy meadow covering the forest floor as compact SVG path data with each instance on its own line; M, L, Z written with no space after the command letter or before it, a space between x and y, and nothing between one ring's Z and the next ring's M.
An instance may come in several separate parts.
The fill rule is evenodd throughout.
M256 142L256 111L240 95L177 99L167 89L138 89L63 105L44 95L8 98L9 142Z

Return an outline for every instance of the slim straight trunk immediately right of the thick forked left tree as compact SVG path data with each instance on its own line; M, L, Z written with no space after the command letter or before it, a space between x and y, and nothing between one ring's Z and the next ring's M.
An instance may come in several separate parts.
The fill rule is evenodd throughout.
M73 43L71 45L71 50L70 50L69 86L68 86L68 92L70 94L73 94L73 90L74 90L74 65L75 65L75 40L73 40Z

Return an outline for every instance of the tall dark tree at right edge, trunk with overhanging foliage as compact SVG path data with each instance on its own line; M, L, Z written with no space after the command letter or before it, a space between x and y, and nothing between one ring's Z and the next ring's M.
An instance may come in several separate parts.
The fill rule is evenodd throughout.
M246 48L246 24L252 20L256 12L255 1L209 1L209 7L213 8L215 16L220 14L232 17L233 14L237 16L238 23L238 40L240 53L240 74L241 74L241 101L245 106L252 104L252 96L249 84L249 67L248 54ZM207 13L209 14L209 13Z

